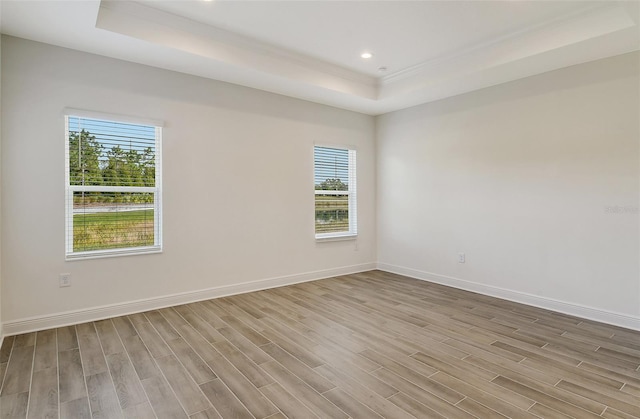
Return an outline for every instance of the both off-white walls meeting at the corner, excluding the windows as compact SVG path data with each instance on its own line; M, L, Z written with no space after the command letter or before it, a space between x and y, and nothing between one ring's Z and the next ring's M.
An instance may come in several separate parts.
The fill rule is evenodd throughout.
M11 37L1 53L6 332L367 269L376 250L386 270L640 328L638 54L374 123ZM65 107L165 121L164 253L64 261ZM358 148L357 243L313 239L316 141Z

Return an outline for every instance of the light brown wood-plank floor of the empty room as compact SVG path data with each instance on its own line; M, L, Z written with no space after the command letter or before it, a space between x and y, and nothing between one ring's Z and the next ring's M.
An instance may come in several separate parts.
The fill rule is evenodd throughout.
M379 271L5 338L2 417L640 417L640 332Z

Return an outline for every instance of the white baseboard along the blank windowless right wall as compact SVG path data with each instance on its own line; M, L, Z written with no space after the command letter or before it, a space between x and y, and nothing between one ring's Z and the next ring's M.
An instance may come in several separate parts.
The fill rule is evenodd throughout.
M491 297L502 298L504 300L509 300L516 303L527 304L530 306L553 310L572 316L582 317L584 319L594 320L601 323L607 323L614 326L620 326L627 329L640 331L640 317L629 316L627 314L606 311L594 307L568 303L565 301L546 297L539 297L537 295L532 295L520 291L513 291L505 288L495 287L492 285L479 284L477 282L467 281L460 278L439 275L432 272L420 271L417 269L391 265L388 263L378 263L378 269L385 272L408 276L410 278L434 282L453 288L477 292L479 294L488 295Z

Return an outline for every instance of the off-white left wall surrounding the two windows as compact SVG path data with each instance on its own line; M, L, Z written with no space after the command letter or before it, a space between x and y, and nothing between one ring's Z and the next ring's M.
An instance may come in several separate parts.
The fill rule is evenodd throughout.
M34 316L375 266L373 117L17 38L2 42L7 332ZM65 262L65 107L165 122L164 253ZM315 242L314 142L358 150L357 242ZM58 287L62 272L72 274L70 288ZM65 319L76 320L56 322Z

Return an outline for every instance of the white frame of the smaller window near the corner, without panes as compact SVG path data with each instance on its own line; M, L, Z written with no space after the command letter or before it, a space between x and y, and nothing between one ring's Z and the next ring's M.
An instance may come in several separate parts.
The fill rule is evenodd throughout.
M328 148L335 150L346 150L348 153L348 186L346 191L332 191L332 190L316 190L315 177L316 177L316 148ZM321 241L339 241L339 240L355 240L358 237L358 179L357 179L357 149L354 146L343 144L322 144L316 143L313 145L313 208L314 208L314 234L317 242ZM317 233L315 216L316 216L316 196L317 195L346 195L348 203L349 214L349 229L348 231Z

